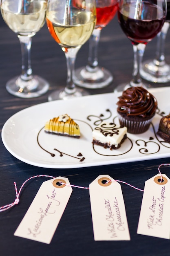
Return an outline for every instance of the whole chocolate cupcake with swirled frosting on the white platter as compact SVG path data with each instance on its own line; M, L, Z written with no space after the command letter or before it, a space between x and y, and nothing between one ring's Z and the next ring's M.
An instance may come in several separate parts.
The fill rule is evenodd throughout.
M142 87L130 87L118 97L120 125L133 134L146 132L157 109L157 100Z

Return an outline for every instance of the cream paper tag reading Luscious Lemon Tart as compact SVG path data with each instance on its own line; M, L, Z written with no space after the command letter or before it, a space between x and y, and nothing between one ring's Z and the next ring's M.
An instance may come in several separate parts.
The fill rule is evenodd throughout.
M71 196L67 178L56 177L42 183L15 236L49 244Z

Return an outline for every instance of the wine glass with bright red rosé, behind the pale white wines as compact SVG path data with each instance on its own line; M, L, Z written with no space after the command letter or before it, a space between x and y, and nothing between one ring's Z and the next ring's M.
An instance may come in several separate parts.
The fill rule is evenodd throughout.
M84 88L103 88L113 81L113 75L98 65L98 45L101 30L117 12L117 0L96 0L97 22L89 39L88 63L75 70L74 82Z

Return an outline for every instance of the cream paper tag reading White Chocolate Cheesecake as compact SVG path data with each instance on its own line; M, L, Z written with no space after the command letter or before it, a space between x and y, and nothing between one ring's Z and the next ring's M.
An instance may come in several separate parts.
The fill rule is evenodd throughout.
M94 239L130 240L121 186L99 175L89 186Z

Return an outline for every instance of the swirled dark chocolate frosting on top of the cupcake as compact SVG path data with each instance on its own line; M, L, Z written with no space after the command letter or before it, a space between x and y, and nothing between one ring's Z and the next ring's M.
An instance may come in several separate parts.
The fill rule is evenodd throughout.
M127 117L152 117L157 109L155 97L142 87L130 87L118 99L117 111Z

